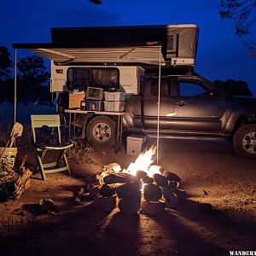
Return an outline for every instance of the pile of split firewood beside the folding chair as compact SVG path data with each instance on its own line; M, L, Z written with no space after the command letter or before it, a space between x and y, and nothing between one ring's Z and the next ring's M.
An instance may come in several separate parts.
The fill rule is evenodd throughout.
M18 170L9 163L0 164L0 201L18 199L30 186L32 172L26 168L25 161Z

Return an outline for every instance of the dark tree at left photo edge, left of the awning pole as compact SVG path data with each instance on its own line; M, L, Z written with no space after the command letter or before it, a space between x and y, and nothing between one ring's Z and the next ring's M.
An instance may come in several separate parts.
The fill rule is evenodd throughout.
M9 50L5 46L0 46L0 80L6 80L10 77L10 69L13 63L9 56Z

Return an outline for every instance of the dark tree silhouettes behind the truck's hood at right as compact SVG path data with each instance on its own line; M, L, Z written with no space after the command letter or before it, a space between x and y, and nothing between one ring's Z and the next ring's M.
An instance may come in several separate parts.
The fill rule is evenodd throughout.
M225 82L221 80L215 80L213 82L218 88L224 90L224 92L231 96L253 96L252 91L249 89L247 82L235 81L229 79Z

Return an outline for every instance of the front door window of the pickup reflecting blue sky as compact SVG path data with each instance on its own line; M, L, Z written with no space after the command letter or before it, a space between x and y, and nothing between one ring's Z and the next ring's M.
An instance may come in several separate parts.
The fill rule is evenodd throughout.
M179 95L190 97L205 97L207 96L207 90L201 87L200 84L193 82L179 82Z

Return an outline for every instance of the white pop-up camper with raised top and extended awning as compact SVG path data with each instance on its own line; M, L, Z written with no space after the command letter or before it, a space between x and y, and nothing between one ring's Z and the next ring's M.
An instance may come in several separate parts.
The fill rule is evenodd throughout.
M117 75L119 88L137 94L141 74L148 66L195 67L197 40L198 27L193 24L76 27L52 28L51 43L13 47L30 49L51 60L52 92L71 90L72 79L82 69L93 69L91 76L101 76L108 68Z

